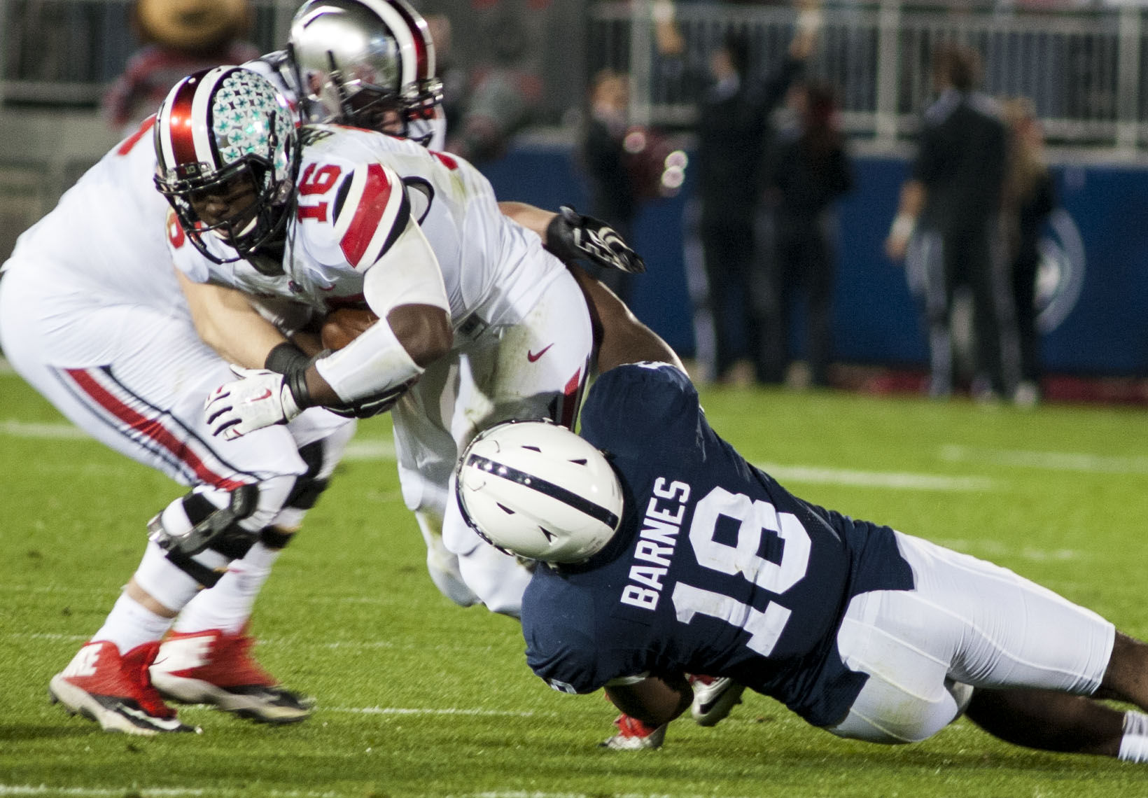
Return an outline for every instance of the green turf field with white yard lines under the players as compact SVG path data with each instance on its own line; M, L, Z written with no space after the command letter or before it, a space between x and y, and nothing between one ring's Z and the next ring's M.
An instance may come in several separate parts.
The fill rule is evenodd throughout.
M517 623L434 589L389 421L354 449L259 598L257 653L318 700L267 728L108 735L47 700L180 493L0 374L0 797L1146 796L1148 768L998 743L961 721L884 747L751 696L660 751L611 752L602 696L554 692ZM1148 636L1148 419L1130 409L707 390L713 425L799 495L993 559ZM71 433L71 434L69 434Z

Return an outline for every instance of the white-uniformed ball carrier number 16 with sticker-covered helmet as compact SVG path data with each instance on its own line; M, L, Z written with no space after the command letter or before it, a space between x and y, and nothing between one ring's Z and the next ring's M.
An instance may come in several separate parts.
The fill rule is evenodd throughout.
M220 386L212 431L241 437L310 406L393 406L435 583L517 615L529 571L461 522L449 481L459 447L494 421L573 424L594 343L579 284L465 161L359 129L300 134L274 87L241 68L191 76L157 117L156 185L191 280L380 319L318 358L278 347L293 365Z

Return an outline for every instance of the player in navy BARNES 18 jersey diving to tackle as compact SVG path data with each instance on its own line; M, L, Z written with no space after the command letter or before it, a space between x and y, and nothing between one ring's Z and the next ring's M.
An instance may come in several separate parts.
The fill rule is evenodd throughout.
M616 363L582 436L506 423L458 464L474 529L549 564L521 618L551 687L604 687L654 743L701 671L840 737L917 742L967 714L1010 743L1148 761L1148 715L1101 703L1148 710L1148 645L1010 571L793 496L711 428L680 369Z

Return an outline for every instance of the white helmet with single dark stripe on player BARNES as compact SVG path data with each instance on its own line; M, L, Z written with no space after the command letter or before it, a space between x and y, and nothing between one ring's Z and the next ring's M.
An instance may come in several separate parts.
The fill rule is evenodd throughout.
M606 457L550 421L507 421L475 437L458 463L463 517L502 551L579 563L622 518L622 486Z

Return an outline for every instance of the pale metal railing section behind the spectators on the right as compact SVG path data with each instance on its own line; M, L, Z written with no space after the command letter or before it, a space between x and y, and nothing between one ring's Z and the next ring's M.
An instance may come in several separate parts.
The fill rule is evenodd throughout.
M1141 8L1033 11L1000 7L827 5L809 70L833 84L843 121L855 137L894 146L910 135L932 96L930 54L938 41L975 47L985 88L1026 96L1061 146L1110 150L1118 157L1148 145L1148 26ZM695 114L682 70L656 47L647 0L596 2L590 8L590 71L610 67L631 80L638 121L688 125ZM762 77L783 57L792 33L786 5L678 3L687 52L704 68L727 30L751 46L751 71Z

